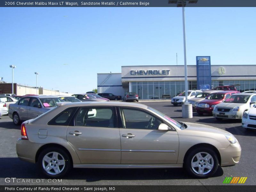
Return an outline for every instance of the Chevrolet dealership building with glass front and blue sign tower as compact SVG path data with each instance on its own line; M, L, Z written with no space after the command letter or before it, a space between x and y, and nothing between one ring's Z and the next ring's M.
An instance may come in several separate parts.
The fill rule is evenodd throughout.
M121 73L98 73L98 93L136 92L140 99L172 98L185 90L184 65L122 66ZM196 57L188 65L188 90L236 85L240 92L256 90L256 65L211 65L210 57Z

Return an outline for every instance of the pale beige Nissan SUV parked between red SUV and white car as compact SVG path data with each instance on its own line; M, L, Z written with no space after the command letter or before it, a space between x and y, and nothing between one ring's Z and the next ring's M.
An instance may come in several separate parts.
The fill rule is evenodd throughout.
M255 105L255 93L234 94L213 108L213 116L217 120L242 119L244 112L253 108Z

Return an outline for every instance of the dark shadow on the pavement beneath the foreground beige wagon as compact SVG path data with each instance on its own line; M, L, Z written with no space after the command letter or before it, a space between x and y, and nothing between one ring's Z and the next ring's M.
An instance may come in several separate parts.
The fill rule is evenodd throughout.
M19 158L0 158L0 178L16 177L30 179L46 179L36 168L36 164L21 161ZM213 177L223 175L222 168L218 167ZM94 182L100 180L172 180L195 179L186 173L183 168L168 169L72 169L68 176L62 178L68 180L85 180Z

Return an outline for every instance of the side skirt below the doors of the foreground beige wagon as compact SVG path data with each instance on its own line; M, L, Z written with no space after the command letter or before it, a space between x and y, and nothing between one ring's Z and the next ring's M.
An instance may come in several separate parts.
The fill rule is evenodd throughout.
M74 168L182 168L183 164L73 164Z

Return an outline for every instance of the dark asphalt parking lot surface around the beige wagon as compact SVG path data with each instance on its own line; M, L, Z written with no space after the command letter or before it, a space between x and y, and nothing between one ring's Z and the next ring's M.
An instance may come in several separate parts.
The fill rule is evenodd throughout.
M227 185L226 177L248 177L246 185L256 185L255 144L256 130L247 131L239 120L217 121L210 115L182 118L181 106L174 107L170 101L141 102L172 117L176 121L214 126L235 135L242 148L240 162L231 167L219 167L208 179L194 179L182 168L173 169L73 169L60 183L46 180L36 165L21 161L16 154L16 141L20 126L15 126L9 116L0 117L0 185ZM29 150L29 149L28 149ZM16 179L9 180L5 178ZM24 180L22 180L24 179ZM45 180L43 180L45 179ZM14 182L13 182L14 180ZM7 181L7 182L5 182ZM25 182L23 182L25 181ZM234 184L233 184L234 185ZM239 185L239 184L236 184ZM241 185L241 184L240 184Z

